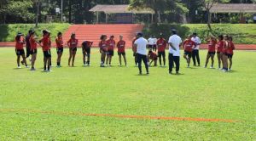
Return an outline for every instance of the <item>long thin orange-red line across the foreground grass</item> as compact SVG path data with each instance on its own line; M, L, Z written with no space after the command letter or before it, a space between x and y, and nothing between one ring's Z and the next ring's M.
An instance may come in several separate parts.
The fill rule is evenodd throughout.
M166 120L166 121L210 121L210 122L236 122L235 120L228 119L207 119L207 118L192 118L192 117L170 117L170 116L125 116L114 114L86 114L79 112L60 112L60 111L47 111L47 110L12 110L2 109L0 112L20 112L26 114L50 114L58 116L104 116L116 118L132 118L132 119L145 119L145 120Z

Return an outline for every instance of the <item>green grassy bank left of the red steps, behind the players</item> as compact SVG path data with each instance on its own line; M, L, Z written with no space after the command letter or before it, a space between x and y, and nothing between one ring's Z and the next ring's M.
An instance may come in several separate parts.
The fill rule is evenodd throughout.
M67 30L69 24L39 24L38 28L35 28L33 24L9 24L0 25L0 42L12 42L15 40L15 36L18 32L22 32L24 35L29 30L35 30L38 37L42 36L42 31L47 29L51 31L52 39L54 39L59 31L64 32Z

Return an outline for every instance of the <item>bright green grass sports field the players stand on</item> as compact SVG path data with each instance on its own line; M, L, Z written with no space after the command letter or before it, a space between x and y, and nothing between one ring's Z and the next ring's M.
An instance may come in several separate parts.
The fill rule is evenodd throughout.
M16 69L15 48L0 48L0 140L256 140L256 52L236 51L230 73L181 59L178 76L167 67L138 76L131 50L128 67L115 53L113 67L100 68L98 49L90 67L80 49L76 67L67 56L43 73L38 49L32 72Z

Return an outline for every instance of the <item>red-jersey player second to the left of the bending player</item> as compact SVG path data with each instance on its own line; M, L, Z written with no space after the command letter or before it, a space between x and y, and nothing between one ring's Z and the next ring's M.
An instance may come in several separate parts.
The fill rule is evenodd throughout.
M55 38L55 42L56 42L56 52L58 55L57 58L57 67L61 67L61 56L63 54L63 39L62 39L62 33L59 32L57 37Z

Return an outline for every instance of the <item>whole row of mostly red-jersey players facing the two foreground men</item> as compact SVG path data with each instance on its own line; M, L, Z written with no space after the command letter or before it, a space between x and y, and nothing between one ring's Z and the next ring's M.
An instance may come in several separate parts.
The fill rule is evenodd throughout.
M134 37L132 42L132 47L134 42L138 37ZM118 48L119 55L119 65L122 65L122 57L125 62L125 66L127 65L126 57L125 57L125 41L123 40L123 36L119 36L119 42L114 41L114 37L110 36L109 39L107 35L102 35L100 37L101 41L99 42L99 48L101 53L101 67L111 66L114 48ZM35 71L35 61L37 59L38 54L38 45L43 48L44 53L44 71L49 72L51 67L51 41L50 41L50 31L44 30L43 37L38 39L35 35L35 31L29 31L26 37L22 33L18 33L15 37L15 52L17 55L17 65L20 67L20 63L25 65L28 68L26 59L31 55L31 71ZM77 53L77 48L79 40L76 38L76 35L73 33L70 39L67 41L67 46L69 47L69 58L68 65L74 66L74 60ZM26 55L24 51L24 45L26 44ZM93 42L84 41L82 43L83 50L83 61L84 66L90 66L90 48ZM168 47L168 42L166 42L163 34L160 34L160 38L149 37L148 38L148 65L150 66L154 63L154 66L157 65L157 61L159 59L160 66L166 66L166 48ZM207 38L208 44L208 54L207 61L205 67L209 62L209 59L212 60L211 68L213 68L214 64L214 56L216 54L216 46L217 47L217 57L218 57L218 69L223 71L230 71L232 66L232 56L233 50L235 49L234 43L232 42L232 37L229 36L219 36L218 41L215 37ZM63 54L64 42L62 39L62 34L59 32L57 37L55 38L56 45L56 66L61 67L61 56ZM181 46L184 49L183 58L186 59L188 67L190 67L191 58L194 61L194 65L196 65L195 60L197 60L198 65L200 66L200 57L199 57L199 46L201 45L201 40L197 37L196 33L192 36L187 37ZM137 48L132 48L134 52L135 64L137 65ZM20 61L20 57L22 57L22 61ZM163 64L162 64L163 60ZM221 63L223 67L221 68ZM230 64L230 65L229 65Z

